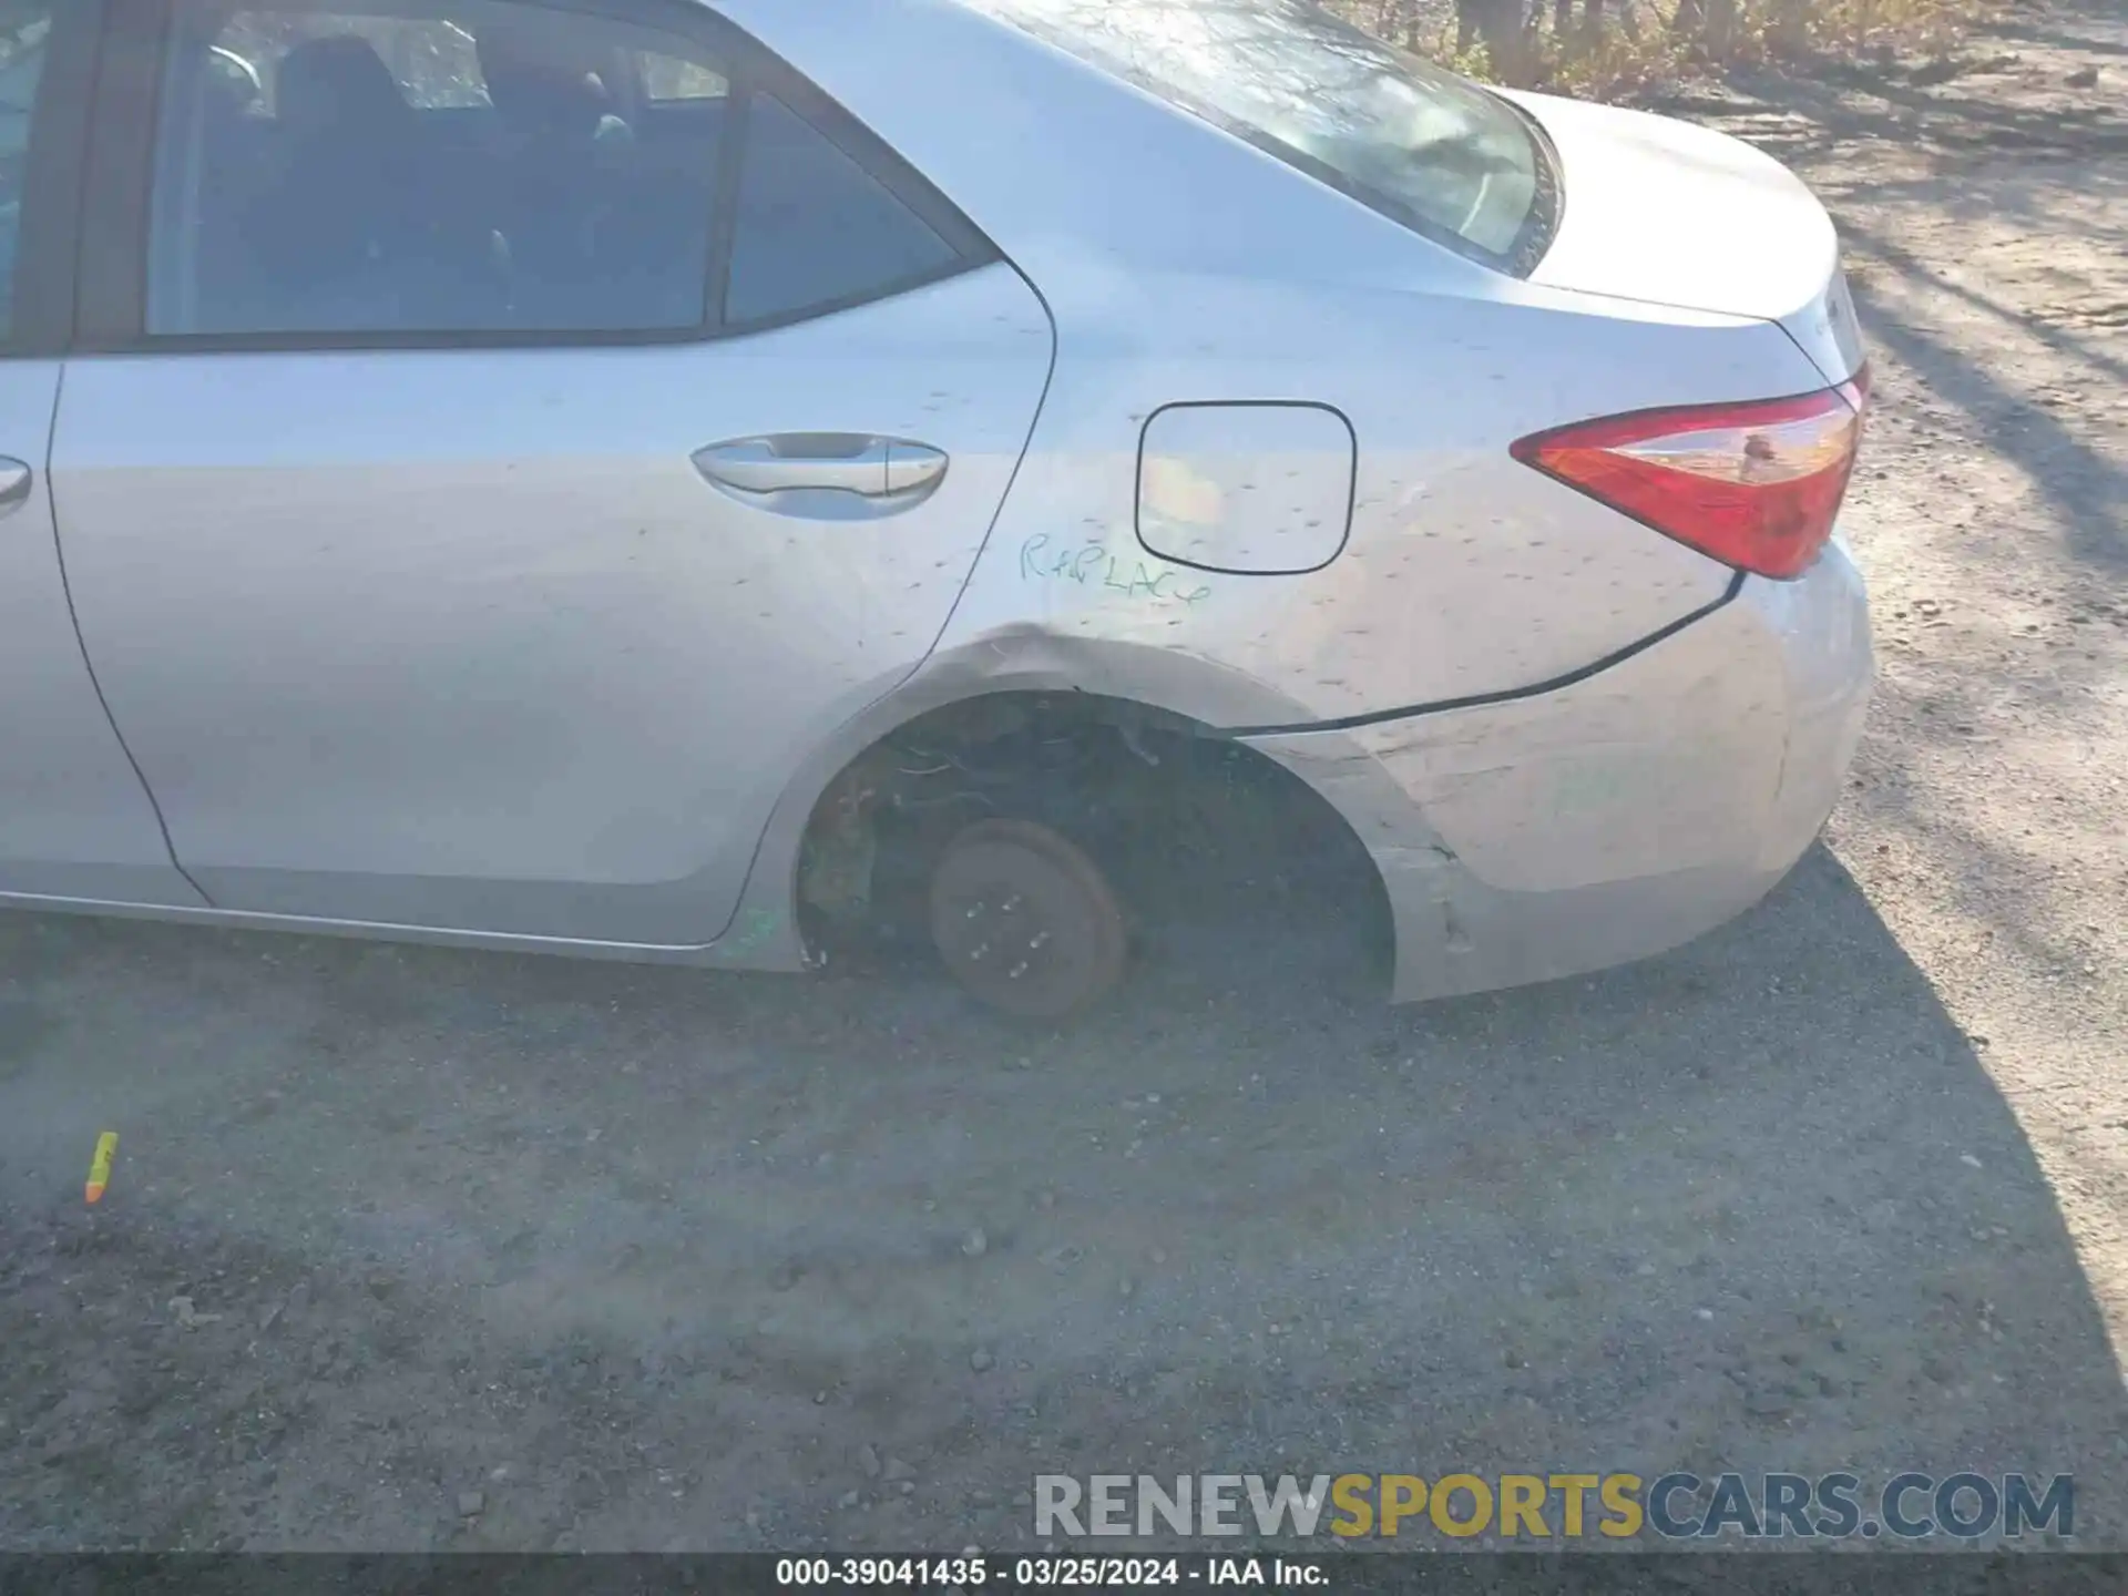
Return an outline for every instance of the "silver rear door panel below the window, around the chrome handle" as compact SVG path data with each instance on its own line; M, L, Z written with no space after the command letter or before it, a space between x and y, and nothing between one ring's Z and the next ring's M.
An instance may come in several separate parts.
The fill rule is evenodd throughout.
M83 645L221 909L706 943L800 751L930 651L1049 355L992 264L696 345L79 360ZM945 472L836 515L694 462L785 434Z

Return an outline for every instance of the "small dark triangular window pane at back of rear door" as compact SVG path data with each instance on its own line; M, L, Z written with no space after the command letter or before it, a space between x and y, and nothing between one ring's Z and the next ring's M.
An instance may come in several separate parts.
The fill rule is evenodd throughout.
M747 104L741 168L732 326L881 298L958 264L953 245L768 94Z

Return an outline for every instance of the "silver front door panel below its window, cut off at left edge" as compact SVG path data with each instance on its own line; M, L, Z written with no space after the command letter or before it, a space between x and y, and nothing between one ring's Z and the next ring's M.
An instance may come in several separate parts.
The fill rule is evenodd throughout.
M96 698L45 483L57 362L0 364L0 894L200 904Z

